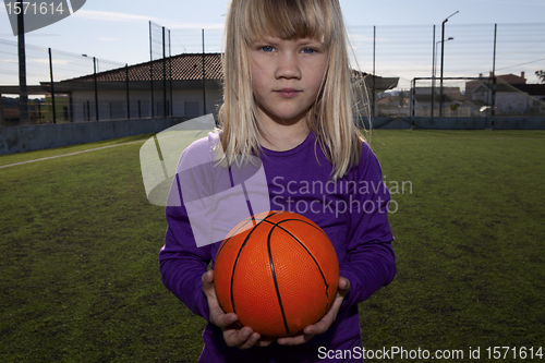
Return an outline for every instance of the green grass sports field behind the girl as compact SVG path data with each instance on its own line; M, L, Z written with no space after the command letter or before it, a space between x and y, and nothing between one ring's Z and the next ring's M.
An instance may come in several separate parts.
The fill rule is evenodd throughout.
M160 281L164 208L146 199L142 143L125 144L149 136L0 156L121 145L0 168L1 362L196 362L205 322ZM545 132L374 131L371 144L398 206L398 275L360 306L364 347L463 361L525 347L540 361Z

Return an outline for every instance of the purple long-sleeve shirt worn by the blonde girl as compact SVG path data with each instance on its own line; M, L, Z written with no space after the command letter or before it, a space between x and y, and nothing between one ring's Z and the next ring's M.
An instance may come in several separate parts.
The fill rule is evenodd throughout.
M390 283L396 275L387 213L390 196L378 160L367 144L362 145L360 165L332 182L331 164L315 141L310 133L302 144L287 152L262 148L261 160L270 209L299 213L315 221L331 240L339 274L350 280L350 291L336 322L325 334L301 346L272 343L244 351L227 347L221 330L208 323L199 362L318 362L331 350L352 350L358 356L358 347L362 347L358 304ZM180 165L206 155L217 142L215 133L195 142L182 154ZM208 320L201 278L209 262L214 263L220 241L196 246L183 202L167 207L166 214L168 229L159 253L162 281L194 314ZM361 359L343 362L361 362Z

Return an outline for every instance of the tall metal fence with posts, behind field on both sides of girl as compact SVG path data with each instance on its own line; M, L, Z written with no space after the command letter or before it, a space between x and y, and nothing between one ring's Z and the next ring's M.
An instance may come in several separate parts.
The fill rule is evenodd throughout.
M545 116L545 84L536 75L545 70L545 23L448 23L444 38L434 25L354 26L348 32L353 66L382 85L370 89L374 116ZM207 62L214 62L211 55L219 57L221 36L220 28L172 31L150 22L149 43L142 41L149 45L149 62L133 65L26 45L26 119L19 106L17 44L0 39L0 124L215 111L220 88L207 74L213 66ZM196 75L173 69L180 55L194 56ZM136 75L146 66L146 75Z

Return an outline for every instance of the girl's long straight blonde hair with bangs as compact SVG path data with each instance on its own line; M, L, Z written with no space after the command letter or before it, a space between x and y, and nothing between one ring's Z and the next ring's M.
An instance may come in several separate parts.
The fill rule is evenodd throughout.
M247 45L265 36L313 38L328 49L322 90L306 118L308 129L334 167L336 180L360 162L362 133L354 117L348 38L338 0L231 0L223 34L223 105L219 111L225 155L258 156L257 106L252 89ZM363 88L362 88L363 89ZM360 98L360 101L362 98Z

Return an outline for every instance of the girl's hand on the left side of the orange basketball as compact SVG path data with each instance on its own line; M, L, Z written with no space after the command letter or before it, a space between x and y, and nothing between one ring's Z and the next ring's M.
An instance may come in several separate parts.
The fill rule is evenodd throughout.
M238 347L240 349L249 349L254 346L266 347L270 344L270 340L261 340L258 332L255 332L251 327L240 329L235 323L239 317L234 313L226 314L219 305L214 289L214 270L208 270L202 277L203 291L208 300L209 320L211 324L223 330L223 339L229 347Z

